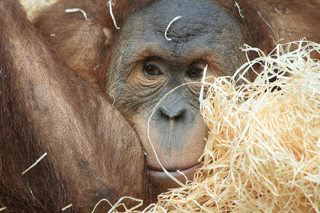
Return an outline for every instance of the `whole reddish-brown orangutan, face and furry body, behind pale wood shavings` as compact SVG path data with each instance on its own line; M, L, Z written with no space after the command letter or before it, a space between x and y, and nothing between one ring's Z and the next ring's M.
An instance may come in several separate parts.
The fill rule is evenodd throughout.
M151 144L171 175L192 180L208 132L198 109L203 68L233 75L244 43L272 49L255 4L237 2L250 18L231 0L117 0L118 31L104 0L61 0L33 23L17 0L0 1L0 208L90 212L101 199L155 202L178 185ZM88 20L65 13L75 8ZM107 209L103 202L96 211Z

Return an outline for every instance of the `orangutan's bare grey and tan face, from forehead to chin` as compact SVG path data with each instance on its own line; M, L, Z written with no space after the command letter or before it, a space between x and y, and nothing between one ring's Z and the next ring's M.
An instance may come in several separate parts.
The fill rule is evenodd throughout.
M171 24L167 40L166 28L176 16L182 18ZM149 124L151 143L164 168L183 182L176 170L192 179L201 167L198 158L208 133L198 101L203 68L208 65L207 76L233 75L245 61L239 50L244 43L238 23L209 1L156 1L122 26L106 88L129 114L146 153L149 177L159 191L176 184L163 172L147 136L151 112L172 89L195 82L169 94Z

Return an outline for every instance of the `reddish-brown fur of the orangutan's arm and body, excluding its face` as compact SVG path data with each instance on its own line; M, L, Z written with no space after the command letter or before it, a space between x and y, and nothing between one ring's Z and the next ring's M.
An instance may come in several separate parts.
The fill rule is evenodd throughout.
M252 6L252 1L237 1L245 18L239 16L235 1L215 2L238 19L248 45L266 53L272 49L272 31L257 10L268 22L280 22L269 16L262 0L257 2L263 4L260 9ZM118 0L113 7L117 24L121 26L132 11L147 3ZM301 23L312 14L319 17L314 13L319 7L311 9L304 4L312 13L301 16ZM65 13L66 8L85 10L92 24L83 22L82 13ZM61 1L34 20L38 30L28 22L18 1L0 1L0 11L0 209L60 212L73 204L67 211L88 212L102 198L112 202L124 195L146 202L154 199L145 183L144 156L137 135L109 104L112 100L104 91L117 39L107 1ZM278 32L280 24L275 25ZM313 27L306 27L306 31L319 42L319 22ZM112 32L108 49L103 28ZM299 29L290 30L288 38L299 39L300 35L304 34ZM96 72L92 71L95 67ZM48 156L21 175L45 152Z

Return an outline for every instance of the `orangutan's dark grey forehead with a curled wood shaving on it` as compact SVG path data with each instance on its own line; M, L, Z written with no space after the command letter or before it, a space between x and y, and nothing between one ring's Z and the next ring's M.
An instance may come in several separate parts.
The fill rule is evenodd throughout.
M168 35L180 39L213 32L215 35L232 33L238 26L227 11L206 0L155 1L132 14L127 23L136 31L153 29L162 34L167 31Z

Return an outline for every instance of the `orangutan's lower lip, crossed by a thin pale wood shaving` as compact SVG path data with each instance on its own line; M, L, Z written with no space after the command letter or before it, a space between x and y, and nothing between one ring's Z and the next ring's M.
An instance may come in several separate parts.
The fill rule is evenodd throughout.
M181 173L186 175L186 177L191 178L190 176L193 176L193 174L196 172L198 168L202 167L202 163L198 163L196 165L193 165L190 168L186 168L184 170L180 170ZM173 172L173 171L168 171L170 175L174 176L174 178L184 180L184 176L181 173L178 172ZM148 168L148 175L150 178L154 180L159 180L159 181L166 181L166 180L171 180L171 178L164 173L164 171L158 171L158 170L151 170ZM183 178L183 179L182 179Z

